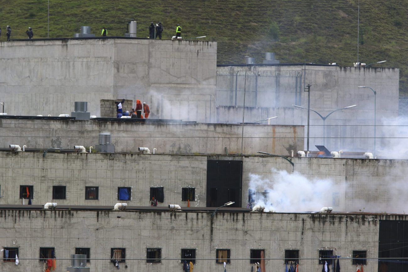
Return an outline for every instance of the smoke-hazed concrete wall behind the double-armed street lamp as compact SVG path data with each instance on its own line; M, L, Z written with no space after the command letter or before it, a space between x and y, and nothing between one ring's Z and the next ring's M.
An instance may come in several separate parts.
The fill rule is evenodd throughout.
M399 69L359 68L306 65L218 66L217 102L220 105L215 122L242 122L244 82L245 122L278 116L271 124L307 124L306 84L310 88L310 108L326 116L339 108L357 107L330 115L325 122L310 112L310 148L323 145L333 150L373 152L374 94L377 92L377 137L387 135L390 128L381 127L398 117ZM246 71L246 76L245 76ZM246 78L246 80L245 80ZM257 87L256 87L257 86ZM237 91L235 91L237 88ZM236 93L236 95L235 95ZM235 96L237 103L235 104ZM306 142L305 142L306 146ZM384 150L386 142L377 140L377 150Z

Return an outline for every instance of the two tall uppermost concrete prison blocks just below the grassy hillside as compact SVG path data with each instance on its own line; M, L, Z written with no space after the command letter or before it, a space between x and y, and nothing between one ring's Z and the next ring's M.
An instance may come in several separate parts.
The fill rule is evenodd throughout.
M217 42L137 38L50 39L0 43L0 95L9 115L69 114L75 101L97 117L114 117L113 101L150 105L153 119L204 123L305 125L311 84L310 148L373 150L377 92L377 150L387 150L389 124L398 117L399 69L327 64L216 64ZM351 66L351 64L350 64ZM245 83L246 82L246 83ZM245 84L244 84L245 83ZM245 97L245 105L244 105ZM110 102L109 102L110 101ZM106 104L111 104L107 110ZM109 116L111 115L111 116ZM394 142L394 144L396 144Z

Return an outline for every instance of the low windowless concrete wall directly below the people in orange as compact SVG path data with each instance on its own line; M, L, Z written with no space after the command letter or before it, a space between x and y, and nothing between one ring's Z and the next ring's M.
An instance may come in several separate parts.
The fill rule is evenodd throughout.
M303 126L245 124L134 123L95 120L0 119L0 147L18 144L27 148L93 146L99 133L109 132L115 152L136 153L148 147L164 154L256 154L264 151L290 155L302 150ZM244 136L242 140L242 136ZM242 150L241 150L242 148Z

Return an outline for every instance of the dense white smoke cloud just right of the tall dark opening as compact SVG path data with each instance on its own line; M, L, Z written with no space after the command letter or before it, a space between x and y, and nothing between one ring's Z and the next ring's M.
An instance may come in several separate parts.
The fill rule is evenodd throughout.
M274 179L262 179L250 174L249 189L257 192L254 205L265 206L266 211L306 212L319 211L332 203L333 181L309 181L299 172L272 169Z

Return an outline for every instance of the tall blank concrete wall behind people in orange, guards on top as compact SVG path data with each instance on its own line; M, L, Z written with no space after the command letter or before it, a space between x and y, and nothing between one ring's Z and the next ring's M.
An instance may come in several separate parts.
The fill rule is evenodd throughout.
M142 100L162 119L205 122L215 95L217 43L139 39L0 43L0 96L9 115L71 113L88 102ZM134 107L134 105L133 105Z

